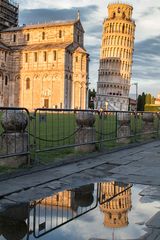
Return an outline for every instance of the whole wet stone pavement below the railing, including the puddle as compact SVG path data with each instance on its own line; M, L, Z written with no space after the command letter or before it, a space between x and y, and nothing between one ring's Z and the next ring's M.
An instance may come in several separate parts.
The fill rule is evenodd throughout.
M155 141L1 181L0 239L158 240L159 172Z

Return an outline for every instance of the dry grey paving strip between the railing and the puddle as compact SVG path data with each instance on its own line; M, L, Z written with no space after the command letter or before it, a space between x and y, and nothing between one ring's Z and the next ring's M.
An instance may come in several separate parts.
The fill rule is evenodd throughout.
M132 149L124 149L119 152L92 157L83 162L72 163L2 181L0 182L0 197L24 189L27 190L49 181L57 181L57 179L61 179L61 184L64 182L64 185L67 182L70 185L71 183L75 184L75 182L76 184L81 184L84 181L99 181L99 178L104 177L105 179L115 178L125 182L157 186L160 185L159 147L160 143L157 141ZM86 176L87 173L88 176ZM72 177L69 178L69 176ZM55 186L53 186L54 188Z

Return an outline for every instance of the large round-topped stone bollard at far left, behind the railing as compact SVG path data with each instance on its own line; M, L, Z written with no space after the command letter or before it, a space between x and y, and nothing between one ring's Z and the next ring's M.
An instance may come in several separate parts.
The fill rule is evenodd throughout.
M6 110L3 112L1 125L4 129L0 138L0 166L17 168L28 162L28 125L27 115L21 110ZM6 156L6 157L5 157Z

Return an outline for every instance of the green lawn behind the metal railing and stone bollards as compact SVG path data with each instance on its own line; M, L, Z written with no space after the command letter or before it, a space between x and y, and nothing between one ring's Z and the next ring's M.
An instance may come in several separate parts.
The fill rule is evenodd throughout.
M115 147L126 146L128 143L120 143L117 141L117 130L120 127L117 122L116 113L105 114L103 117L95 115L96 141L102 141L101 144L96 144L97 150L100 145L103 149L113 149ZM157 129L158 120L154 121L154 129ZM135 117L131 116L130 130L132 136L129 141L142 142L146 139L156 137L157 134L143 132L144 123L142 116L139 115L135 121ZM2 131L2 129L0 129ZM48 164L66 156L83 156L83 153L77 153L74 150L76 138L79 135L79 130L76 124L76 114L72 112L37 112L36 118L29 122L28 131L30 133L31 158L41 164ZM136 135L136 133L140 133ZM36 137L34 137L36 136ZM35 149L39 151L35 156ZM62 149L58 149L62 147ZM63 148L65 147L65 148ZM49 150L50 151L46 151ZM6 169L0 169L0 172Z

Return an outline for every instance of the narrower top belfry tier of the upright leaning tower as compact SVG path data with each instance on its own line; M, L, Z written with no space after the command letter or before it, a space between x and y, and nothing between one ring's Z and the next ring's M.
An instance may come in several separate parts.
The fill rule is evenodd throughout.
M123 3L113 3L108 5L108 18L109 19L132 19L133 7Z

